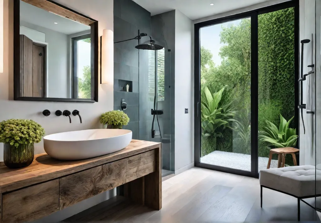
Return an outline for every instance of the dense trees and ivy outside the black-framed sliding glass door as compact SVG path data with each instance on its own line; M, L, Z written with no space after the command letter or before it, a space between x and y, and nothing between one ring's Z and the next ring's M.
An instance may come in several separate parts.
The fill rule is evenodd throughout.
M237 25L222 26L220 38L224 44L219 52L221 64L214 64L213 52L201 47L201 156L214 150L250 154L251 20L246 18ZM291 117L294 116L295 101L293 8L258 16L258 67L258 128L262 139L259 141L259 156L268 157L267 146L273 144L274 147L281 147L287 141L291 144L295 138L295 129L291 130L294 127ZM209 110L207 96L208 92L216 92L212 96L214 98L220 90L221 104L231 103L233 116L230 119L236 121L217 124L215 128L214 121L212 123L209 119L216 120L220 115L217 114L217 108L220 109L221 106L219 104L217 108L214 106ZM284 120L289 120L285 121L285 125L282 118L280 122L280 114ZM276 143L262 138L265 128L273 126L272 124L287 126L287 129L278 129L282 140L271 137ZM214 142L216 145L210 146ZM294 146L295 143L291 145Z

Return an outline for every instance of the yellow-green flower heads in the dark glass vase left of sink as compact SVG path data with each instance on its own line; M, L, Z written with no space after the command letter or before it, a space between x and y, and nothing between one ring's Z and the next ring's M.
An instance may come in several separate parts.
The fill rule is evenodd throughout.
M20 144L38 143L45 135L44 128L27 119L9 119L0 122L0 142L18 147Z

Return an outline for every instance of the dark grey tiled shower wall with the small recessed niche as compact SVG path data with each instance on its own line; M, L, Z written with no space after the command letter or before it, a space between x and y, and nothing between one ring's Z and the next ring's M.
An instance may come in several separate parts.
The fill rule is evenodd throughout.
M141 33L151 33L151 13L131 0L114 0L114 42L134 38ZM147 37L141 39L146 41ZM125 99L130 118L124 126L133 132L133 139L139 139L139 76L138 40L114 44L114 110L121 110L121 99ZM141 58L141 66L148 61ZM147 64L147 65L146 65ZM132 81L133 92L119 91L118 80Z

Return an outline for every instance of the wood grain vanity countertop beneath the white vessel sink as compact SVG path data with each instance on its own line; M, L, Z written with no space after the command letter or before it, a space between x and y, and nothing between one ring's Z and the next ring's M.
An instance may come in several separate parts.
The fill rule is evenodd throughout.
M64 161L47 153L35 155L28 167L10 169L0 162L0 193L22 189L160 147L159 142L132 140L123 150L90 159ZM90 148L89 148L90 149Z

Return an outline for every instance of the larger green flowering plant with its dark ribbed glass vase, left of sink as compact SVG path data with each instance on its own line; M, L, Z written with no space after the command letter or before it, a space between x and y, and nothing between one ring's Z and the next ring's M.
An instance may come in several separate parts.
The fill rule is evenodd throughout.
M0 122L0 142L4 143L4 164L9 168L29 166L34 143L42 140L45 130L32 120L9 119Z

